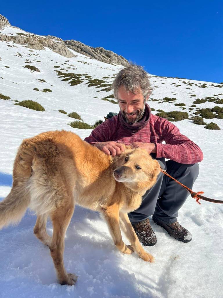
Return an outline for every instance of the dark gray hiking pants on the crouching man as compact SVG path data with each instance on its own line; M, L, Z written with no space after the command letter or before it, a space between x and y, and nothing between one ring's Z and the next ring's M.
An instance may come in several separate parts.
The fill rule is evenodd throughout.
M192 189L194 181L199 173L199 165L180 164L173 160L165 162L165 158L156 158L155 154L151 156L156 159L162 168L172 177ZM173 179L160 173L156 184L150 190L147 190L142 197L141 206L128 214L132 224L143 221L150 215L155 215L157 219L172 224L177 221L178 210L183 206L190 193Z

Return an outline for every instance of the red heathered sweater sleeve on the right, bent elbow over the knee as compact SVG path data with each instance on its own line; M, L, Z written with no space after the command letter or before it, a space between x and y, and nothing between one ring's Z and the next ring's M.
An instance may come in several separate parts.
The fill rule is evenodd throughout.
M162 119L162 118L161 118ZM156 157L165 157L181 164L201 162L201 149L189 138L180 133L180 130L167 119L160 121L160 133L166 144L156 143Z

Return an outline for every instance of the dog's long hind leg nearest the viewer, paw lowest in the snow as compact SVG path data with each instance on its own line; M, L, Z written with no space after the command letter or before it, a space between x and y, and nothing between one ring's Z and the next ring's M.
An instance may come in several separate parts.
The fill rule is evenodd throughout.
M74 285L76 283L77 276L72 273L67 274L63 261L65 233L74 210L72 205L67 205L68 206L61 206L51 213L54 230L50 251L59 283L62 285Z

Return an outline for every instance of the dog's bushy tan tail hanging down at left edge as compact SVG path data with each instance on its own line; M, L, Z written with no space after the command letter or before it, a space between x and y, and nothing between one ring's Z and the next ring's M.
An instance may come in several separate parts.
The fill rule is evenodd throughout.
M13 185L7 197L0 202L0 229L10 224L18 224L30 203L27 182L31 177L33 156L24 150L24 142L15 158Z

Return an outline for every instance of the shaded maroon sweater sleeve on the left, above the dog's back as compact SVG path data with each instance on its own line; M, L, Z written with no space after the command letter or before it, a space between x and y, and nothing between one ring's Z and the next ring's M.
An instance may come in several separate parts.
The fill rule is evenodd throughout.
M115 118L116 116L98 125L95 129L92 130L91 134L84 139L84 141L88 142L91 145L97 142L112 141L112 135L115 132L117 122Z

